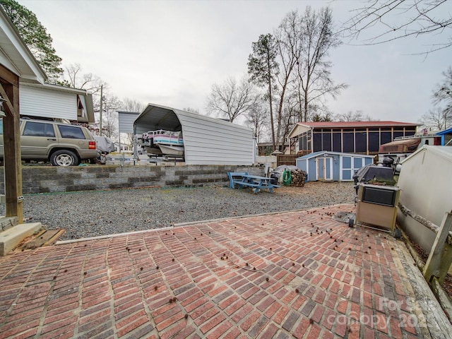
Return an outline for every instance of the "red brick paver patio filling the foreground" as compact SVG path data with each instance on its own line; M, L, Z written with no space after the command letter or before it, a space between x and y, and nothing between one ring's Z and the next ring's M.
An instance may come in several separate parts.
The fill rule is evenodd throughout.
M352 205L0 258L0 338L424 338L402 242Z

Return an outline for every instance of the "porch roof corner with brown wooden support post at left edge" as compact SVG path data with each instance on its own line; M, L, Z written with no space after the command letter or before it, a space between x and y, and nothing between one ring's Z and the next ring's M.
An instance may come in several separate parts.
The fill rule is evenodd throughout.
M43 84L44 71L0 8L0 95L4 101L4 177L6 217L23 222L20 162L19 88L23 83Z

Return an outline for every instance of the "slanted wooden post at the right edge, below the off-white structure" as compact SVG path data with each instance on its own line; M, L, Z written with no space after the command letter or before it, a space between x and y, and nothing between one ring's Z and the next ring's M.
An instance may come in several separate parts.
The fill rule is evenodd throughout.
M424 267L424 278L430 283L436 277L443 283L452 263L452 245L448 243L448 235L452 230L452 214L445 213L439 232L430 251L429 258Z

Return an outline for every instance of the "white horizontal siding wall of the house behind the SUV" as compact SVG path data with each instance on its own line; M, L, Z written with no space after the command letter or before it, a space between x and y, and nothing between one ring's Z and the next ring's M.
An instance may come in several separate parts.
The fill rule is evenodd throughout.
M20 84L20 114L77 120L77 95Z

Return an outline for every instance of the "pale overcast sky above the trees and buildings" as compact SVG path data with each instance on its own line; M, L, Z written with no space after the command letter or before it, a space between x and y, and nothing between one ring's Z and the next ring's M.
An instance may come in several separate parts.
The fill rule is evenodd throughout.
M47 28L63 66L80 64L120 99L201 113L213 83L246 73L252 42L273 32L288 12L330 6L339 27L362 6L355 0L18 2ZM452 11L452 1L443 6ZM332 50L333 79L349 88L328 106L334 114L361 110L373 119L417 122L432 109L434 85L452 64L452 49L411 55L435 39Z

